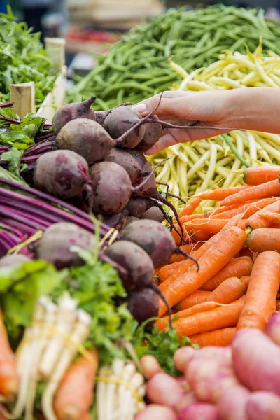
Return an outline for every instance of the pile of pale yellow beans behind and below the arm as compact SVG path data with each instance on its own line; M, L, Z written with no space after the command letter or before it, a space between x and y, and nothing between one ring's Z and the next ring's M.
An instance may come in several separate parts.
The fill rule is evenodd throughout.
M171 64L183 77L179 90L280 87L280 57L272 51L267 54L268 57L262 55L261 43L255 52L248 50L246 55L226 51L207 69L190 74ZM156 179L168 183L171 193L184 198L209 188L242 185L245 167L279 165L279 144L279 135L237 130L213 139L172 146L148 161L156 165L162 159L171 158L158 169ZM202 202L205 211L215 205L212 200Z

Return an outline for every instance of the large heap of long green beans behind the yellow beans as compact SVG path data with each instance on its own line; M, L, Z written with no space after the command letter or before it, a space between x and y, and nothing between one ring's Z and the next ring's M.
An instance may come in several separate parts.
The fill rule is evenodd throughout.
M264 10L221 4L204 9L170 9L148 25L135 27L98 58L97 66L69 94L70 101L94 95L94 109L137 103L174 87L180 76L169 57L186 71L209 66L221 51L252 51L262 36L265 49L280 54L280 26ZM246 45L245 45L246 44Z

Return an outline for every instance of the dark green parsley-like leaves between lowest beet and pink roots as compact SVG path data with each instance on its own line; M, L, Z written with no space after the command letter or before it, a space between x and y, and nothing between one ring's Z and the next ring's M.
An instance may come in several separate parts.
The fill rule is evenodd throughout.
M132 339L134 349L139 358L144 354L151 354L155 356L165 372L172 376L179 376L180 372L174 366L173 356L180 347L189 346L190 339L181 337L179 341L176 328L172 328L172 330L169 328L167 331L163 330L159 333L158 326L155 326L151 332L146 332L147 323L155 319L157 318L148 319L134 332Z

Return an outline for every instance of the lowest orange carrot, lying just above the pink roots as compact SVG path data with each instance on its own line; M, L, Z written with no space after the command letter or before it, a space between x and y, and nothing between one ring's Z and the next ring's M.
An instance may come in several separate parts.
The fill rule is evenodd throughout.
M190 340L193 344L200 344L200 346L230 346L233 337L235 337L236 328L222 328L221 330L214 330L209 332L202 332L201 334L191 335Z

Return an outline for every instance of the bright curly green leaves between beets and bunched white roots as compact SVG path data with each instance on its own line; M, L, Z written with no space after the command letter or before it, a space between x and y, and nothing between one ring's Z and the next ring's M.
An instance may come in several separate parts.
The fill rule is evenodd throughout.
M59 297L67 290L78 299L79 307L92 316L86 345L96 346L100 363L108 365L113 358L125 356L125 351L116 346L116 340L132 339L133 318L125 305L116 307L113 300L116 296L126 295L118 272L111 265L95 260L94 256L90 260L90 253L84 257L87 260L85 265L73 267L69 279L61 283L52 296Z

